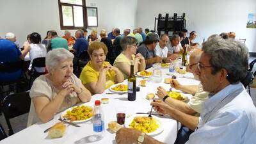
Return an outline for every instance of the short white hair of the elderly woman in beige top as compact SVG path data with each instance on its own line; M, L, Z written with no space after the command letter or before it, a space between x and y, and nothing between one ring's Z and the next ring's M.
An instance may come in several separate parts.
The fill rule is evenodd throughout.
M53 49L52 51L49 51L45 57L45 66L49 71L51 71L52 68L55 68L60 63L60 61L73 59L73 58L74 58L74 54L67 51L67 49L64 49L64 48Z

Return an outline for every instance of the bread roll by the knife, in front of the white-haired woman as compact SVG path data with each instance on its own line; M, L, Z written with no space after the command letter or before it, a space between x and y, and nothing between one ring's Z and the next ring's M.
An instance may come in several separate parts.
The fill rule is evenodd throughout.
M67 126L62 122L59 122L53 125L53 127L49 130L48 135L51 138L61 138L65 134L66 129Z

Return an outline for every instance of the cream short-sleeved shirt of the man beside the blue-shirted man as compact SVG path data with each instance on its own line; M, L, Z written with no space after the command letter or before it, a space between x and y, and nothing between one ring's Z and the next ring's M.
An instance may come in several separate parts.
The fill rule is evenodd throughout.
M188 106L196 111L197 113L202 113L202 108L204 106L205 100L208 99L209 92L203 90L203 86L200 83L198 85L198 91L195 95L189 100Z

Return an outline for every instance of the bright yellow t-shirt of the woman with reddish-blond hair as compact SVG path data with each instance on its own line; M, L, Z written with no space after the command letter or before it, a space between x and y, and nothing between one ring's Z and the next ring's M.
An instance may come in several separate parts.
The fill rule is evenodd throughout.
M108 61L104 61L103 67L106 65L110 65ZM92 67L92 61L89 61L87 65L83 68L79 79L81 79L83 84L97 82L100 76L100 72L96 71ZM115 76L116 73L113 70L108 70L106 72L106 86L105 89L109 88L113 84L115 84Z

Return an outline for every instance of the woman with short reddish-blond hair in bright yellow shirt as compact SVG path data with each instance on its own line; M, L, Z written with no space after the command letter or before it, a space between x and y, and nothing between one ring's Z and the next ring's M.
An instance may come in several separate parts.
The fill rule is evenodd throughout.
M108 48L102 42L92 42L88 48L91 60L83 68L80 79L92 93L103 93L115 83L124 81L124 76L118 68L106 60Z

